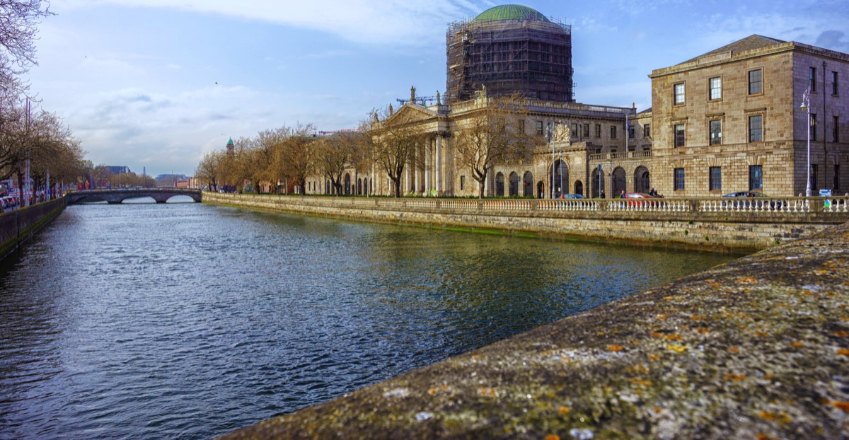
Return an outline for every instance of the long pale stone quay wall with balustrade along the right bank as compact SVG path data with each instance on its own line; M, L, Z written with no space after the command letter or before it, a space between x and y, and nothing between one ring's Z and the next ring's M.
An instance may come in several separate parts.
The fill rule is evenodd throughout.
M204 203L440 228L498 230L581 240L751 251L849 221L846 198L765 200L746 206L711 199L391 199L206 192ZM828 205L828 206L826 206Z

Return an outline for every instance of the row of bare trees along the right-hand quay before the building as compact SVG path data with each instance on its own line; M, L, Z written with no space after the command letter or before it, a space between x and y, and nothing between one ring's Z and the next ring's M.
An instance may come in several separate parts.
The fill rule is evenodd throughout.
M485 195L486 178L492 166L530 157L538 138L526 133L527 100L520 94L489 98L455 121L453 144L458 166L469 169ZM342 193L346 170L379 171L391 181L396 197L401 196L402 178L411 163L419 168L420 155L435 133L414 112L393 112L391 105L375 110L356 130L318 137L312 124L265 130L253 138L239 138L232 152L216 150L200 161L195 178L211 190L247 184L261 192L263 182L270 190L289 192L306 187L306 179L321 176L335 194ZM279 186L279 188L278 188Z

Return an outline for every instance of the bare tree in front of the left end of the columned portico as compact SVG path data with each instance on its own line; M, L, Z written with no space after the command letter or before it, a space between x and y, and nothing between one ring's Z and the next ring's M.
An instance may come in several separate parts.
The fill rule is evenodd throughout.
M381 118L374 112L368 128L374 162L395 184L396 197L401 197L401 178L410 155L426 140L422 128L408 115L386 111Z

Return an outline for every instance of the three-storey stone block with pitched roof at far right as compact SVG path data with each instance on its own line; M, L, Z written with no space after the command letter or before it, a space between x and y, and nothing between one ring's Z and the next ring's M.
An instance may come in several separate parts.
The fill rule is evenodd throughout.
M849 55L760 36L652 72L655 186L667 195L681 196L746 189L779 196L804 194L807 112L799 107L811 68L816 69L811 114L819 115L812 127L818 132L812 135L811 163L817 170L812 171L812 189L846 192L849 172L840 165L849 153L849 87L840 79L849 75ZM836 87L832 72L838 79ZM678 103L676 87L683 87ZM719 136L715 131L711 138L711 125ZM682 126L683 139L680 134L676 139L676 127ZM683 169L678 186L676 169Z

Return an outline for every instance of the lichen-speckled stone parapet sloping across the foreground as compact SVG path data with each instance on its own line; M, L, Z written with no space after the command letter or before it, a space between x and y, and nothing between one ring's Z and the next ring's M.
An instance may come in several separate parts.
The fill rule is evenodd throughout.
M847 365L844 224L223 438L849 438Z

